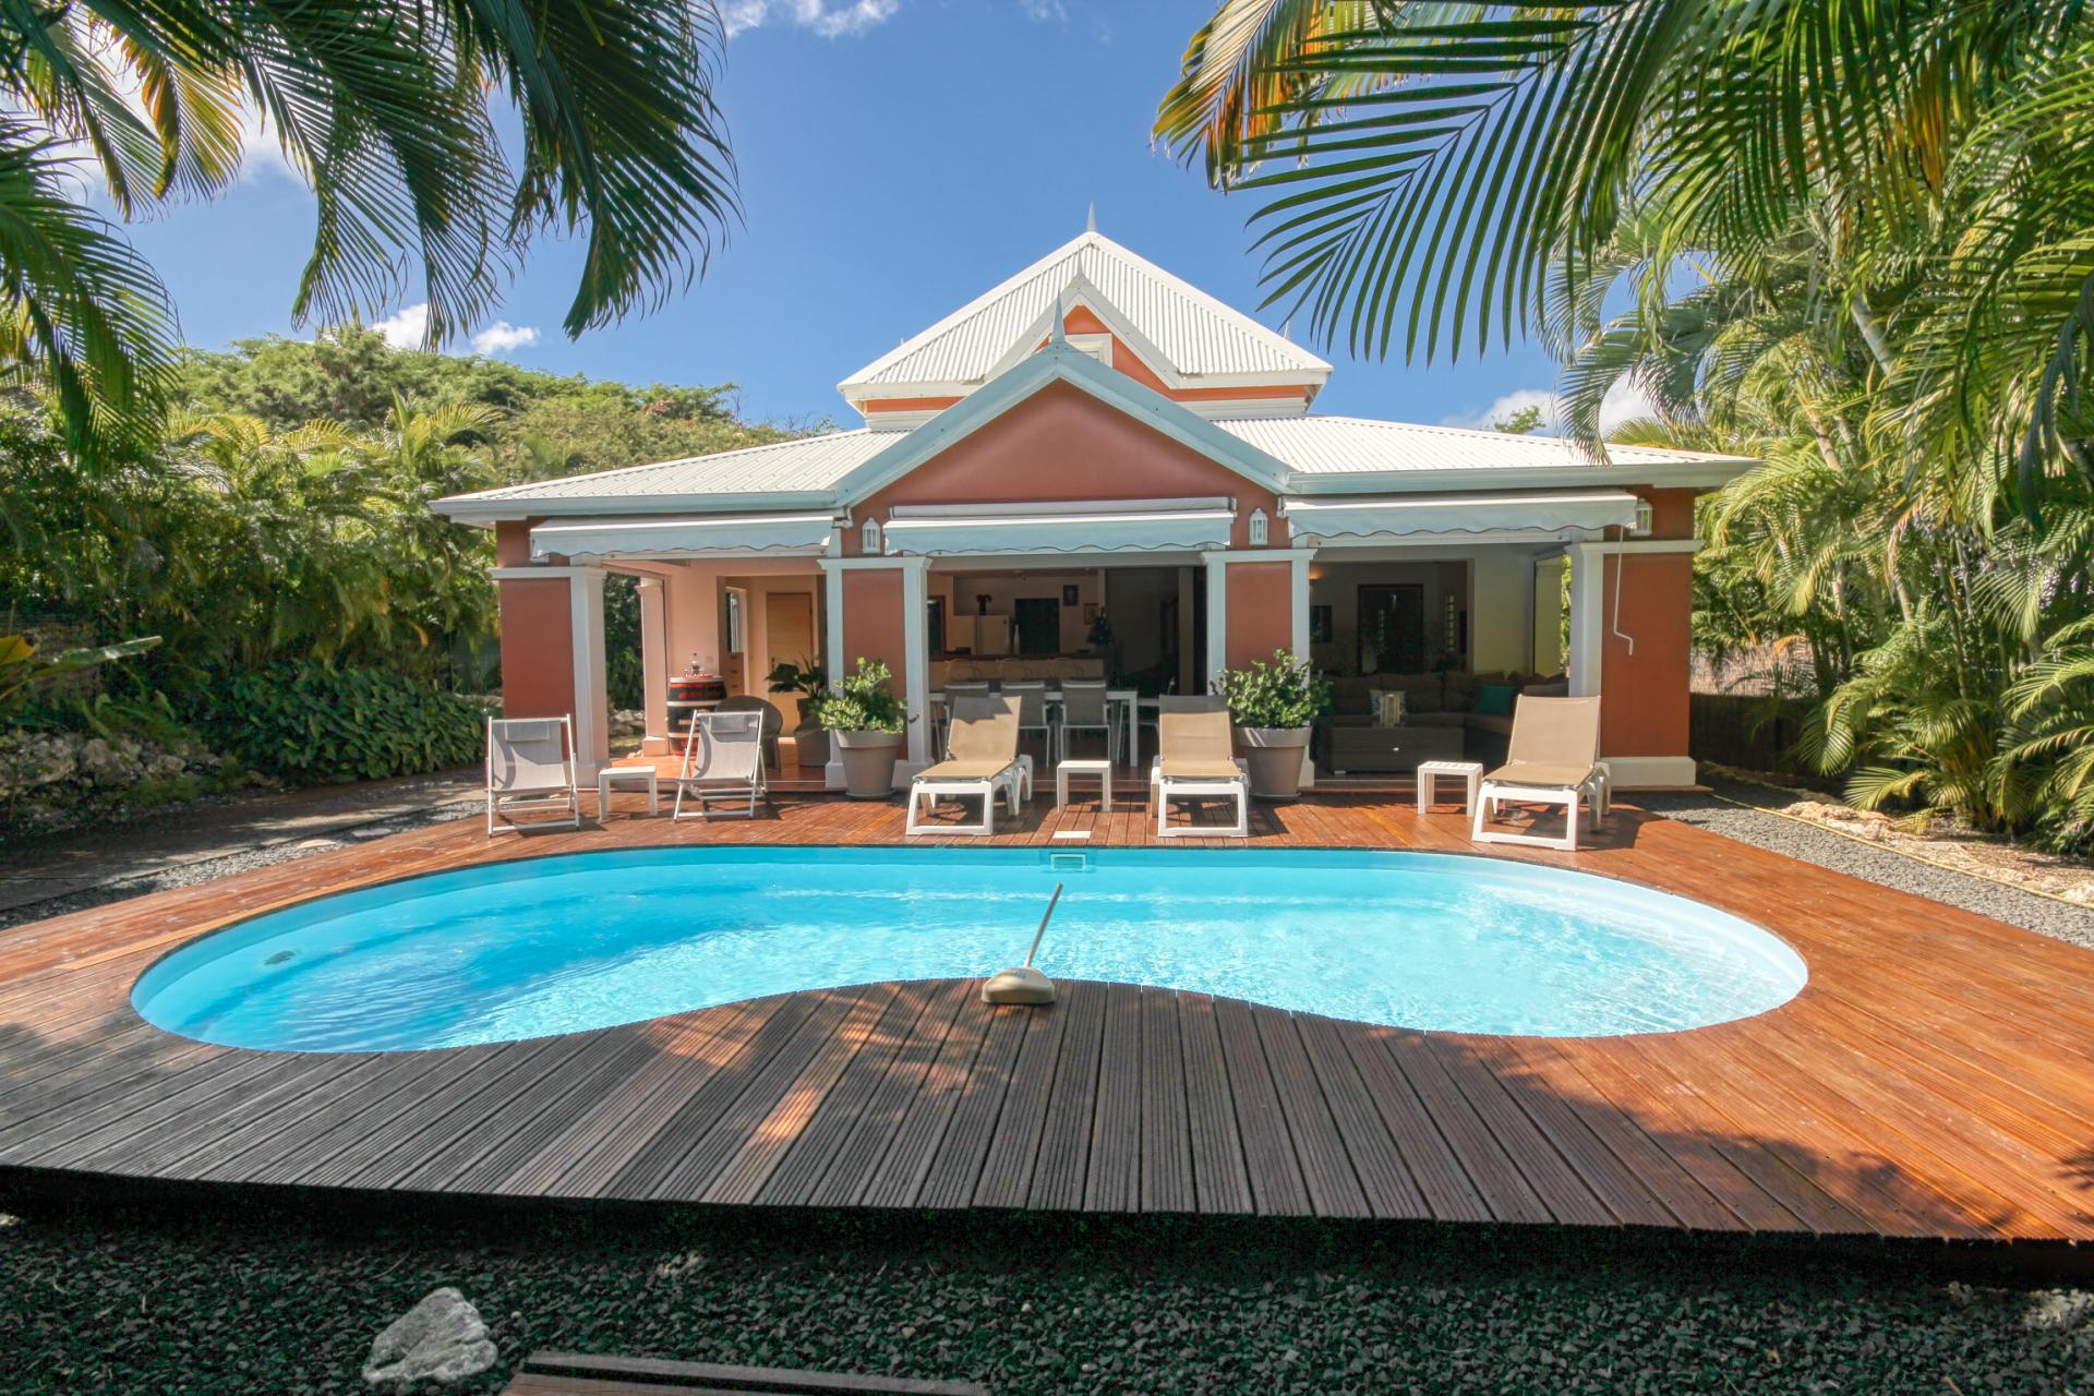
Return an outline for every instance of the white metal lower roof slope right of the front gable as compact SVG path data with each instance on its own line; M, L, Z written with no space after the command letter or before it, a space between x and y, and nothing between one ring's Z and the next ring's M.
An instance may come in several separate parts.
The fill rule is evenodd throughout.
M1244 416L1215 423L1300 475L1386 475L1405 471L1535 471L1585 469L1627 477L1633 467L1709 463L1744 465L1734 456L1654 446L1608 446L1612 467L1554 435L1422 427L1372 416ZM1623 469L1629 467L1629 469Z

